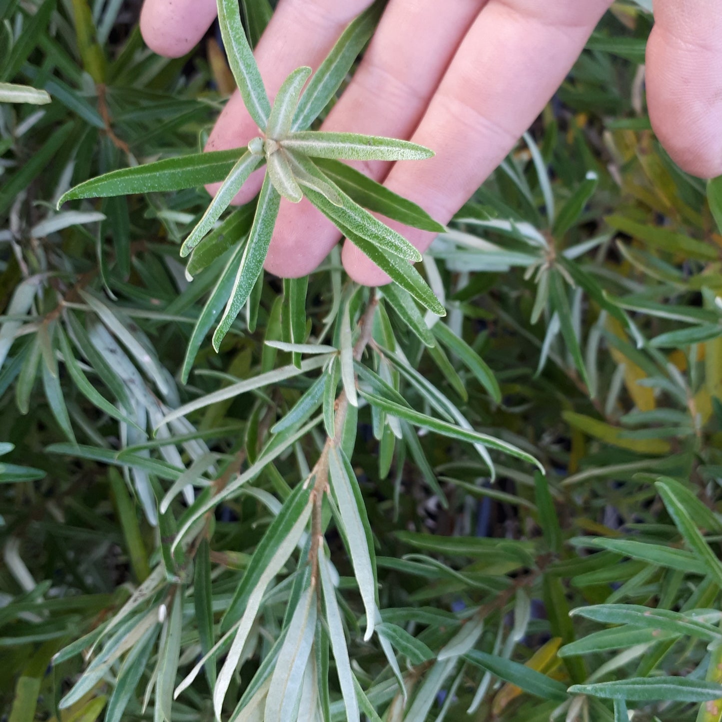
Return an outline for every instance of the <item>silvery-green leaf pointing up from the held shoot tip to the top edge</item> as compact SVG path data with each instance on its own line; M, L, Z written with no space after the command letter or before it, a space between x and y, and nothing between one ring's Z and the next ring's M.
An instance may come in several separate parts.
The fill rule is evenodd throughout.
M240 22L238 0L218 0L218 23L228 64L238 83L245 108L258 128L265 129L271 115L271 103Z

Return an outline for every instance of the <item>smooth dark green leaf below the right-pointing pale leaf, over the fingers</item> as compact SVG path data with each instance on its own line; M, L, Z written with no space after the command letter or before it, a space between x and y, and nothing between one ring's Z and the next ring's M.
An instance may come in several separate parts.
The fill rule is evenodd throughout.
M353 201L370 211L421 230L433 233L446 230L421 206L390 191L386 186L340 160L318 158L314 165Z

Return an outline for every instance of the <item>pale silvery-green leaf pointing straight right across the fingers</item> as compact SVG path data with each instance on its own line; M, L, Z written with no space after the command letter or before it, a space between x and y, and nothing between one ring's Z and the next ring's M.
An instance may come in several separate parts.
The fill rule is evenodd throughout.
M328 131L292 133L283 146L310 157L345 160L425 160L434 156L432 150L406 140Z

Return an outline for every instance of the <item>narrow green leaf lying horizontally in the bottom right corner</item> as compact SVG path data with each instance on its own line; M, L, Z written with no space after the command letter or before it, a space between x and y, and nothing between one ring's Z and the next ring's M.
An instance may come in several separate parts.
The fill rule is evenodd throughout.
M722 684L687 677L633 677L614 682L574 684L569 693L603 700L706 702L722 697Z

